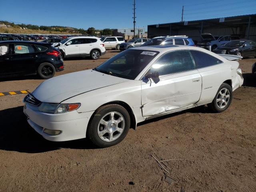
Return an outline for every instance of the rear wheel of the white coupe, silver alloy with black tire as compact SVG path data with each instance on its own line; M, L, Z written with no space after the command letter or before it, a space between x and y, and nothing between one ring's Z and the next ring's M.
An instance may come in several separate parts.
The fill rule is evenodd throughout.
M227 97L227 95L229 95L229 97ZM229 84L222 83L212 103L207 105L213 112L223 112L230 106L230 103L232 102L232 96L232 87Z

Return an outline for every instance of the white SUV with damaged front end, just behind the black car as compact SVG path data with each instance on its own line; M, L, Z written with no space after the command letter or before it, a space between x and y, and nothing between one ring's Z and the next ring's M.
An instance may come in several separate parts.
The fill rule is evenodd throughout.
M97 60L106 53L103 42L97 37L69 37L60 42L58 49L62 58L90 56Z

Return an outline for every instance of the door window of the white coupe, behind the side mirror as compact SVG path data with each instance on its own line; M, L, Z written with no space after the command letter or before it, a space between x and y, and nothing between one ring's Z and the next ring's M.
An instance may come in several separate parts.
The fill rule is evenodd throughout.
M162 56L150 68L159 76L194 70L195 65L189 51L175 51Z

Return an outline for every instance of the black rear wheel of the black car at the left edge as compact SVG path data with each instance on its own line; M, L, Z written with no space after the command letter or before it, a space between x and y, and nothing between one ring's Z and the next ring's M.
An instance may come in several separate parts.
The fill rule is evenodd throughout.
M56 69L51 63L41 63L38 66L37 74L42 79L50 79L54 76Z

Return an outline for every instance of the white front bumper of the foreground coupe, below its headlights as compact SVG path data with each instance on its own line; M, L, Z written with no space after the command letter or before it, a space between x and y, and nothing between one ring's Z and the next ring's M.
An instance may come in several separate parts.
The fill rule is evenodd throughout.
M86 137L86 129L92 112L78 113L76 110L63 114L49 114L38 111L38 106L25 104L24 114L28 117L28 124L36 132L50 141L68 141ZM59 135L49 135L44 129L60 130Z

